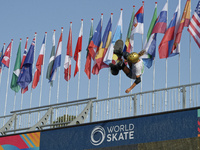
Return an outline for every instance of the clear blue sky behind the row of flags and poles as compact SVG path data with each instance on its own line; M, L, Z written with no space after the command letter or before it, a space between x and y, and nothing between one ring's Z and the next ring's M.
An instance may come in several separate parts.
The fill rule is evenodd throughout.
M144 1L144 36L143 42L146 39L147 31L153 16L154 0ZM166 1L158 1L158 14L162 10ZM184 9L186 0L181 1L181 15ZM11 58L11 69L9 77L9 88L8 88L8 102L6 114L9 114L13 109L14 101L14 91L10 89L10 81L12 77L12 71L14 68L16 53L19 45L19 40L22 38L22 53L24 51L26 37L29 37L28 48L34 37L34 33L37 32L36 39L36 51L35 60L37 60L42 40L45 32L47 32L47 45L45 53L45 63L44 63L44 78L43 78L43 88L42 88L42 103L41 105L48 104L49 96L49 83L45 79L47 65L49 61L49 56L52 47L52 35L53 30L56 30L56 46L61 32L61 27L64 28L63 31L63 46L62 46L62 59L61 59L61 74L60 74L60 91L59 91L59 102L66 102L67 99L67 82L64 80L64 59L66 54L67 39L69 34L70 22L72 22L72 48L73 54L76 47L76 42L78 39L78 34L81 26L81 19L83 19L83 44L81 53L81 70L80 70L80 92L79 99L84 99L88 97L88 78L84 72L85 61L86 61L86 47L88 44L89 31L91 25L91 18L94 18L94 29L96 28L101 13L103 16L103 32L110 18L110 14L113 13L113 26L112 32L116 27L117 21L120 15L120 9L123 9L123 34L122 39L125 40L129 21L133 11L133 5L135 5L135 12L142 6L142 0L130 1L130 0L6 0L2 1L0 5L0 48L3 43L6 43L6 47L10 40L13 39L12 48L12 58ZM168 11L168 23L173 17L173 13L178 5L178 0L169 0L169 11ZM191 15L194 13L197 2L192 1L191 3ZM162 40L163 34L158 34L157 36L157 51L156 51L156 82L155 89L165 87L165 59L159 59L158 57L158 45ZM192 47L192 83L199 82L199 48L191 39ZM135 34L135 45L134 50L139 52L142 49L142 36L140 34ZM181 84L189 83L189 33L187 29L184 28L182 40L181 40ZM34 63L35 65L35 63ZM34 67L35 68L35 67ZM75 61L72 61L72 74L74 74ZM145 68L144 75L142 77L142 88L143 91L152 90L152 72L153 68ZM33 70L33 72L35 69ZM102 69L99 74L100 84L99 84L99 98L107 97L108 89L108 72L109 69ZM57 74L58 75L58 74ZM7 86L8 69L3 69L2 82L0 85L0 116L3 115L4 105L5 105L5 93ZM41 81L41 80L40 80ZM57 96L57 81L54 81L54 86L52 88L51 104L56 103ZM97 76L92 75L90 82L90 97L95 97L97 95ZM122 73L122 83L120 95L124 95L125 90L130 86L131 81ZM168 59L168 87L178 85L178 56ZM77 98L77 86L78 86L78 75L72 77L69 81L69 101L76 100ZM140 86L138 85L134 90L135 92L140 92ZM31 86L29 85L29 91L24 94L23 108L29 108L30 103L30 92ZM33 102L32 107L39 105L39 94L40 94L40 82L36 89L32 91ZM110 79L110 97L119 95L119 76L111 76ZM21 93L16 95L16 110L20 109L21 103Z

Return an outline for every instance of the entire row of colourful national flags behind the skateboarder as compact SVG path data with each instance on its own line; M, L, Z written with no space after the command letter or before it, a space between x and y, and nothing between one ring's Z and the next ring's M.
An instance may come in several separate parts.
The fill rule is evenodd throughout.
M146 67L150 68L152 62L155 58L156 53L156 36L157 33L164 34L161 43L159 44L158 51L159 57L167 58L174 56L180 53L179 44L181 40L181 35L184 27L188 27L189 33L194 38L197 45L200 47L200 1L197 4L194 15L190 20L190 9L191 9L191 0L187 0L185 8L180 19L180 3L178 4L172 20L169 23L167 28L167 11L168 4L166 3L157 17L157 3L155 4L155 10L153 17L150 23L150 27L147 33L147 38L144 44L144 49L146 50L145 55L142 56L144 64ZM134 34L144 32L144 2L140 9L131 16L129 23L129 28L126 36L125 46L123 51L132 52L134 45ZM107 23L103 37L102 36L102 24L103 24L103 14L101 15L100 21L96 27L95 32L93 32L93 19L91 20L91 28L89 35L89 42L87 47L87 56L85 63L85 73L88 78L91 78L92 74L99 74L99 71L102 68L108 67L109 63L112 62L113 56L113 46L118 39L122 39L122 12L117 23L117 27L112 36L112 16ZM57 49L55 49L55 30L52 37L52 50L49 59L49 64L47 68L46 78L52 84L55 80L57 69L61 66L61 52L62 52L62 34L63 28L61 28L61 35L58 41ZM81 28L79 32L79 37L76 44L76 49L74 53L74 60L76 61L74 76L80 69L80 59L81 59L81 50L82 50L82 36L83 36L83 20L81 20ZM11 80L11 89L15 92L18 92L21 89L22 93L25 93L28 90L28 85L32 82L32 88L36 88L40 75L42 73L42 65L44 63L45 47L46 47L46 37L45 33L42 47L36 62L36 71L32 79L32 67L34 61L34 51L36 44L36 33L31 43L29 50L27 50L28 38L25 44L25 50L21 60L21 39L18 47L17 57L15 61L13 76ZM0 71L2 64L9 68L12 42L5 50L3 54L3 49L0 52ZM4 44L5 47L5 44ZM91 60L94 61L93 67L91 67ZM70 23L68 43L67 43L67 52L64 61L64 78L66 81L69 81L71 78L71 63L72 63L72 23Z

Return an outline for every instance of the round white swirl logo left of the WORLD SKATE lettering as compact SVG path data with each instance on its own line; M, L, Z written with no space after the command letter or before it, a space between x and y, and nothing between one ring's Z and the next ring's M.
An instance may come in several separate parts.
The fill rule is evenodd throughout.
M96 126L91 132L91 143L98 146L103 143L105 136L105 129L102 126Z

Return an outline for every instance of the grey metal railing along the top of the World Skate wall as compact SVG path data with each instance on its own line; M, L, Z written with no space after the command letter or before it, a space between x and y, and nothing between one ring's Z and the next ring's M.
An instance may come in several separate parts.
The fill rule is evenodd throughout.
M90 101L92 104L87 118L84 118L85 123L197 107L199 86L200 83L194 83L105 99L93 97L13 111L11 114L16 114L16 117L12 127L1 131L12 115L2 116L0 131L5 134L30 131L45 115L46 122L40 122L42 124L37 126L39 130L66 126L78 117Z

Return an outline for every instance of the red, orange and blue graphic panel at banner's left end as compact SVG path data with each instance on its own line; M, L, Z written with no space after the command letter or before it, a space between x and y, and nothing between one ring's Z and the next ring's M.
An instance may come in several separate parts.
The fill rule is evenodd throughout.
M39 150L40 132L0 138L0 150Z

